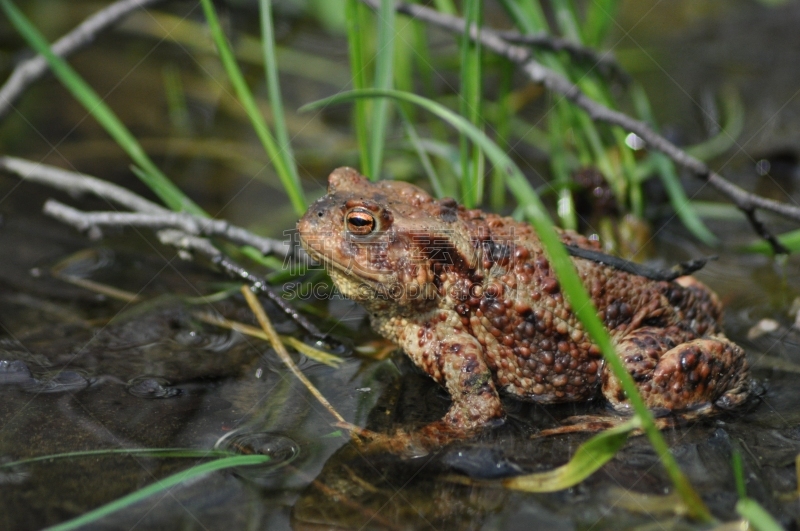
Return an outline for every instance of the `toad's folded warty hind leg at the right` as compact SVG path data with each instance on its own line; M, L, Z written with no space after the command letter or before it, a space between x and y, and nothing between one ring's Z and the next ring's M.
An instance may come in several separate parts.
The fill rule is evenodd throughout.
M617 342L617 352L651 409L729 409L750 393L744 351L722 334L679 342L680 333L639 329ZM608 365L603 367L603 395L616 409L629 407Z

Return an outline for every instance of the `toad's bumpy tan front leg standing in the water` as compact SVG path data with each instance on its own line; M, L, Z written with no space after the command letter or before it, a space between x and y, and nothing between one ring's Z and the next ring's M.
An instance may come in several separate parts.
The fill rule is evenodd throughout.
M458 316L443 313L422 325L409 324L398 340L414 363L445 386L453 400L444 418L422 431L469 437L503 416L483 348Z

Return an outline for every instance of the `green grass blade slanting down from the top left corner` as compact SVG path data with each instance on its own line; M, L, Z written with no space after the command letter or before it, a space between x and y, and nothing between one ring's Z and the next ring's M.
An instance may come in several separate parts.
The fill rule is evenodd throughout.
M0 6L11 24L22 35L34 50L40 53L50 65L58 80L69 90L81 105L97 120L106 132L128 154L133 162L148 176L147 184L163 202L172 210L186 211L195 215L206 216L199 206L181 192L147 156L142 146L136 141L125 125L117 118L111 108L100 98L86 81L84 81L66 61L50 50L41 33L10 2L0 0Z

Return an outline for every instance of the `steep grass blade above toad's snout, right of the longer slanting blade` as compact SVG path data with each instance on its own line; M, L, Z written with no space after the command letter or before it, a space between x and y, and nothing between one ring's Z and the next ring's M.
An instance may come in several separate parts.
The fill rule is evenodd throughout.
M278 141L283 162L292 174L295 182L299 183L297 165L292 152L292 142L289 139L289 130L286 127L286 117L283 114L283 98L281 86L278 82L278 60L275 56L275 31L272 23L272 0L259 0L261 11L261 45L264 53L264 74L267 78L267 93L272 109L272 121L275 128L275 138Z

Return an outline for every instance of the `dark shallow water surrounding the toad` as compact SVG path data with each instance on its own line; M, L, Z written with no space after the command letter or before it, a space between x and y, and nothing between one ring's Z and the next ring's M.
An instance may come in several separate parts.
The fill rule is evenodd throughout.
M36 5L44 10L58 4ZM77 18L94 6L74 5ZM792 158L800 148L794 96L800 86L793 45L800 18L796 6L629 2L620 18L623 62L643 80L659 119L677 139L691 143L707 133L695 106L704 91L714 93L724 84L738 87L747 109L740 148L715 166L767 195L792 192L798 179ZM166 10L199 16L186 5L169 4ZM247 26L247 13L235 12L233 23ZM49 24L54 35L74 22L65 16L64 27ZM346 68L341 39L295 19L282 19L279 30L286 44L327 52L329 66ZM108 95L161 167L209 211L274 236L293 227L294 214L276 193L277 181L248 125L207 80L209 71L219 75L211 66L214 60L174 45L161 45L147 55L154 41L131 31L102 37L74 64ZM11 57L4 60L8 64ZM161 86L168 62L182 65L190 95L186 130L166 118ZM312 77L286 75L289 109L341 89ZM339 78L331 73L329 79ZM128 174L124 155L53 80L39 82L17 109L0 126L5 152L143 192ZM302 131L298 157L311 195L322 193L330 169L356 163L352 138L336 125L347 116L336 112L312 117L290 112L295 133ZM301 118L305 122L296 121ZM205 143L192 152L165 140L176 137ZM205 157L196 157L198 152ZM773 172L774 178L759 176L755 163L762 159L783 171ZM506 424L474 440L416 459L362 453L266 342L198 319L196 312L207 307L186 298L229 287L227 279L180 260L145 231L109 231L103 240L90 241L39 214L49 197L85 210L106 208L90 198L71 198L0 176L0 464L61 452L165 447L244 448L274 458L267 467L217 472L180 484L92 528L703 528L676 514L674 499L664 497L671 493L670 482L643 437L632 438L585 482L558 493L523 494L448 479L561 465L587 435L530 435L570 415L602 412L599 404L539 407L507 400ZM776 230L783 227L774 223ZM673 263L720 255L698 277L726 302L726 331L747 350L763 396L741 411L682 424L664 435L715 516L736 518L730 460L738 448L748 494L796 529L800 501L792 493L797 489L794 460L800 453L800 328L792 308L800 297L800 262L735 252L735 245L751 239L741 219L713 221L711 227L726 249L693 244L680 227L667 223L658 231L656 256ZM52 268L68 257L73 257L70 274L138 294L141 300L116 300L55 278ZM213 307L231 319L253 322L239 297ZM390 431L437 419L446 411L446 393L415 372L402 354L381 361L356 354L354 346L375 339L358 307L335 300L304 308L338 338L331 346L344 363L334 369L297 354L295 359L348 421ZM267 310L279 332L313 343L268 304ZM771 327L748 339L751 328L765 319ZM55 524L198 462L114 455L0 469L0 528Z

